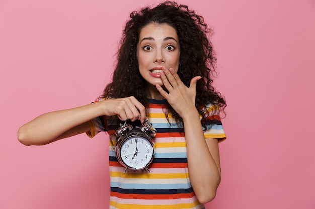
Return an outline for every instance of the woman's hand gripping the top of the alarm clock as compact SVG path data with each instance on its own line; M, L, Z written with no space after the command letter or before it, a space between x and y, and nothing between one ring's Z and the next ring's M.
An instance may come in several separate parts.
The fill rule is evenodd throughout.
M140 120L144 122L146 118L145 107L134 97L113 98L100 101L104 103L103 115L114 116L122 120Z

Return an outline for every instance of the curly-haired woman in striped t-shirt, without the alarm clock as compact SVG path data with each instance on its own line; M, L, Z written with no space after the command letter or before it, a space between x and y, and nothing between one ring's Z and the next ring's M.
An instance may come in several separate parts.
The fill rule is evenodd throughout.
M203 18L164 2L132 12L113 80L97 102L43 114L19 129L25 145L44 145L86 132L110 134L110 208L204 208L221 180L219 113L224 98L211 75L215 58ZM115 130L124 121L152 123L156 154L149 172L117 161Z

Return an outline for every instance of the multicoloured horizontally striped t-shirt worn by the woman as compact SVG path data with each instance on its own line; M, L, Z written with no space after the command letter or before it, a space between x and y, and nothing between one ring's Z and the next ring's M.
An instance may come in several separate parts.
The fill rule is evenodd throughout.
M155 156L147 170L130 170L118 162L115 146L109 143L110 171L110 208L119 209L171 209L171 208L205 208L196 198L190 183L184 133L174 119L165 116L169 108L166 100L149 99L147 106L148 121L157 130L154 137ZM220 117L211 115L214 106L206 107L210 112L211 129L204 132L205 138L226 138ZM207 123L207 122L206 122ZM89 137L101 131L115 134L117 124L98 117L89 121ZM210 123L209 123L210 124Z

